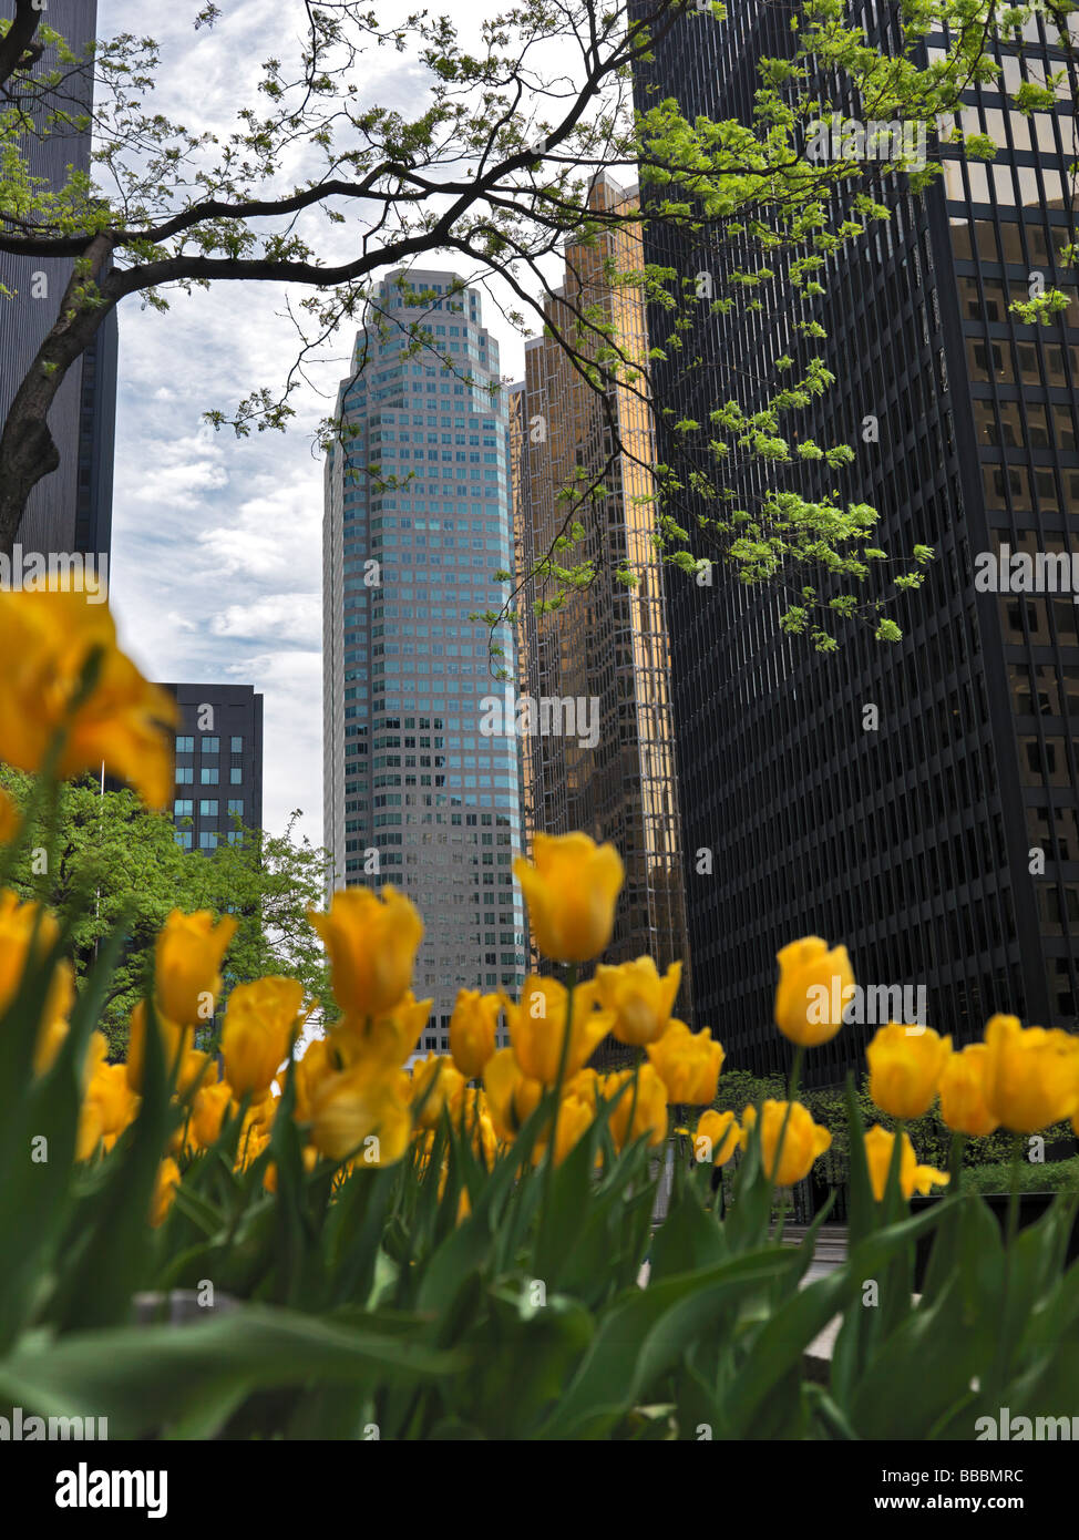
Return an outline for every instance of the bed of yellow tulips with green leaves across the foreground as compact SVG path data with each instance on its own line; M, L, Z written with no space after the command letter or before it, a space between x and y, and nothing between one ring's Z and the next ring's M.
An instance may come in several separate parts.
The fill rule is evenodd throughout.
M15 704L40 718L9 732L0 684L0 758L37 772L43 807L60 772L95 756L119 775L135 756L151 796L169 781L163 702L102 613L0 594L37 691ZM386 887L311 916L340 1016L302 1056L314 1003L266 978L219 1013L232 921L174 913L128 1060L109 1064L95 1023L123 938L74 998L45 893L2 887L22 838L0 808L0 1411L108 1417L114 1438L396 1440L968 1440L999 1408L1079 1411L1079 1266L1064 1264L1079 1195L1022 1232L1013 1204L1002 1235L907 1133L864 1129L851 1092L845 1263L807 1283L814 1232L800 1246L776 1234L779 1189L831 1140L797 1084L803 1055L842 1030L813 1001L853 986L845 949L780 952L788 1095L714 1112L723 1050L673 1018L677 966L577 978L611 935L617 853L539 836L516 872L557 972L519 999L462 992L449 1056L403 1067L429 1010L411 993L422 919ZM220 1053L199 1050L217 1015ZM608 1033L634 1067L588 1067ZM1010 1129L1017 1161L1024 1135L1079 1121L1079 1038L1010 1016L960 1053L890 1024L868 1060L890 1116L940 1096L953 1173L967 1135ZM674 1190L653 1227L671 1140ZM717 1166L734 1172L727 1204ZM934 1187L942 1200L911 1215ZM175 1289L205 1318L137 1323L137 1295ZM805 1354L836 1317L822 1384Z

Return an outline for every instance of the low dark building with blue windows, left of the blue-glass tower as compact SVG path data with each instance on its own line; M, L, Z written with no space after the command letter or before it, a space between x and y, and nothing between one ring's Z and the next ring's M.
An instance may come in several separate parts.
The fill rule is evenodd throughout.
M262 696L249 684L166 684L175 730L175 838L206 853L262 829Z

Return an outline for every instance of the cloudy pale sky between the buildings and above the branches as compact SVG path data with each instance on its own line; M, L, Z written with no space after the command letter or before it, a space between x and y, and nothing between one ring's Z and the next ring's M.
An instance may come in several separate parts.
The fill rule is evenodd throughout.
M445 6L454 8L460 3ZM236 106L256 99L260 62L291 54L305 12L294 0L222 0L217 28L194 32L197 9L194 0L149 11L99 0L99 34L149 28L162 45L155 106L192 129L226 131ZM408 60L377 57L372 99L402 106L411 99L414 108ZM520 342L491 305L485 320L503 368L517 371ZM263 693L266 827L280 830L302 808L303 832L320 841L322 460L312 431L331 408L351 334L323 350L312 388L294 397L286 434L237 439L214 433L202 414L283 382L296 334L282 288L174 293L166 316L135 296L119 322L109 587L122 641L151 678L252 684Z

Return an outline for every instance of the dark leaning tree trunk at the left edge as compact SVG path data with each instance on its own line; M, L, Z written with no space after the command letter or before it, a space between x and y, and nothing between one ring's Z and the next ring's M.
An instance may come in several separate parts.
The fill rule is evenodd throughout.
M65 290L60 314L8 410L0 433L0 554L12 554L31 491L60 465L48 416L68 370L115 305L117 296L108 293L108 279L94 300L88 302L80 294L85 286L97 285L111 253L105 236L86 248Z

